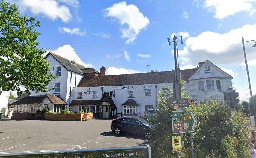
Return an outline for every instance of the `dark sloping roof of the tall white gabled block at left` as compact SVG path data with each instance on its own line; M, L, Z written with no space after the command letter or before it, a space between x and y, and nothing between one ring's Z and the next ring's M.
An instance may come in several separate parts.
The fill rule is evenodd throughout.
M52 52L49 52L49 53L46 55L46 57L47 57L49 54L51 54L56 60L58 60L58 61L60 62L60 64L61 64L63 67L65 67L67 70L73 71L73 72L76 72L76 73L79 73L79 74L83 74L82 71L80 70L80 68L85 68L85 67L83 67L82 65L80 65L80 64L78 65L76 62L73 62L73 63L75 63L75 64L73 64L73 63L71 63L71 62L69 61L69 59L63 58L63 57L61 57L60 55L57 55L57 54L52 53ZM45 58L46 58L46 57L45 57Z

